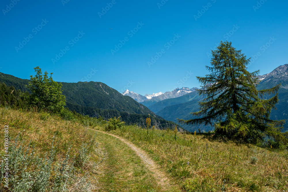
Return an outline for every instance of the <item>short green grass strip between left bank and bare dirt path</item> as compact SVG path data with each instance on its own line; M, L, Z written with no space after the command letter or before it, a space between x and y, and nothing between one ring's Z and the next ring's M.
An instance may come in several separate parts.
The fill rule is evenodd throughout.
M125 143L103 133L96 140L107 153L99 191L161 191L152 173Z

